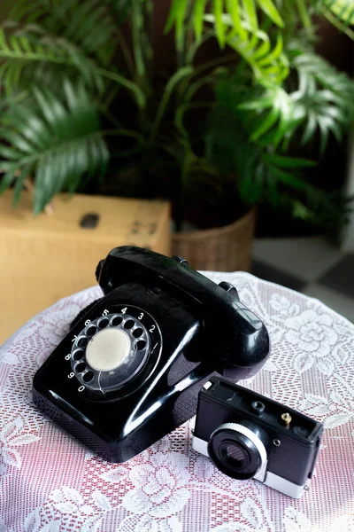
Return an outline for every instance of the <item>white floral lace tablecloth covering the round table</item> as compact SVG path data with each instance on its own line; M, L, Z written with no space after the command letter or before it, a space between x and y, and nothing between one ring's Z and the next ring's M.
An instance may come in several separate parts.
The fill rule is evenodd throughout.
M235 481L191 449L189 422L125 464L93 455L37 411L37 368L73 317L101 293L58 301L0 348L0 531L354 531L354 325L319 301L245 273L208 273L238 288L273 354L241 384L325 425L301 499Z

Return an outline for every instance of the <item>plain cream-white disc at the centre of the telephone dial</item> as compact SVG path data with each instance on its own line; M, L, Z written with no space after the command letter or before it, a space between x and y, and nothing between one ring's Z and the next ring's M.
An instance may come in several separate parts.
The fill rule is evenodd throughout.
M130 340L120 329L104 329L89 340L86 360L98 372L111 372L122 364L130 352Z

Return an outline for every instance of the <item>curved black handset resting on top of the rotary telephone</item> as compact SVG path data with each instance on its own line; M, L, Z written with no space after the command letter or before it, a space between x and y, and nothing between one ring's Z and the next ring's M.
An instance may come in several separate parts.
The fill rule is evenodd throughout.
M196 311L209 337L209 356L218 356L230 366L250 367L269 354L269 336L262 321L233 293L185 263L134 246L116 247L101 267L99 284L109 293L129 280L165 290Z

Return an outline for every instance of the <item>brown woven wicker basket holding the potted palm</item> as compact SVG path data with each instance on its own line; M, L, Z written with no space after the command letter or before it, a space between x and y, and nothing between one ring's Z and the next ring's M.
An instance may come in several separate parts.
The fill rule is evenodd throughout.
M175 233L173 254L184 257L195 270L250 271L256 210L234 223L202 231Z

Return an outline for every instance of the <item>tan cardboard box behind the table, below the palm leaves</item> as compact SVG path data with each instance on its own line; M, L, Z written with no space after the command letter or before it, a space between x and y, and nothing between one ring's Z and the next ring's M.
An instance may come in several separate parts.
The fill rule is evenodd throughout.
M0 196L0 344L58 299L95 285L97 262L113 247L170 254L164 201L60 194L53 207L35 217L28 192L16 208L12 191Z

